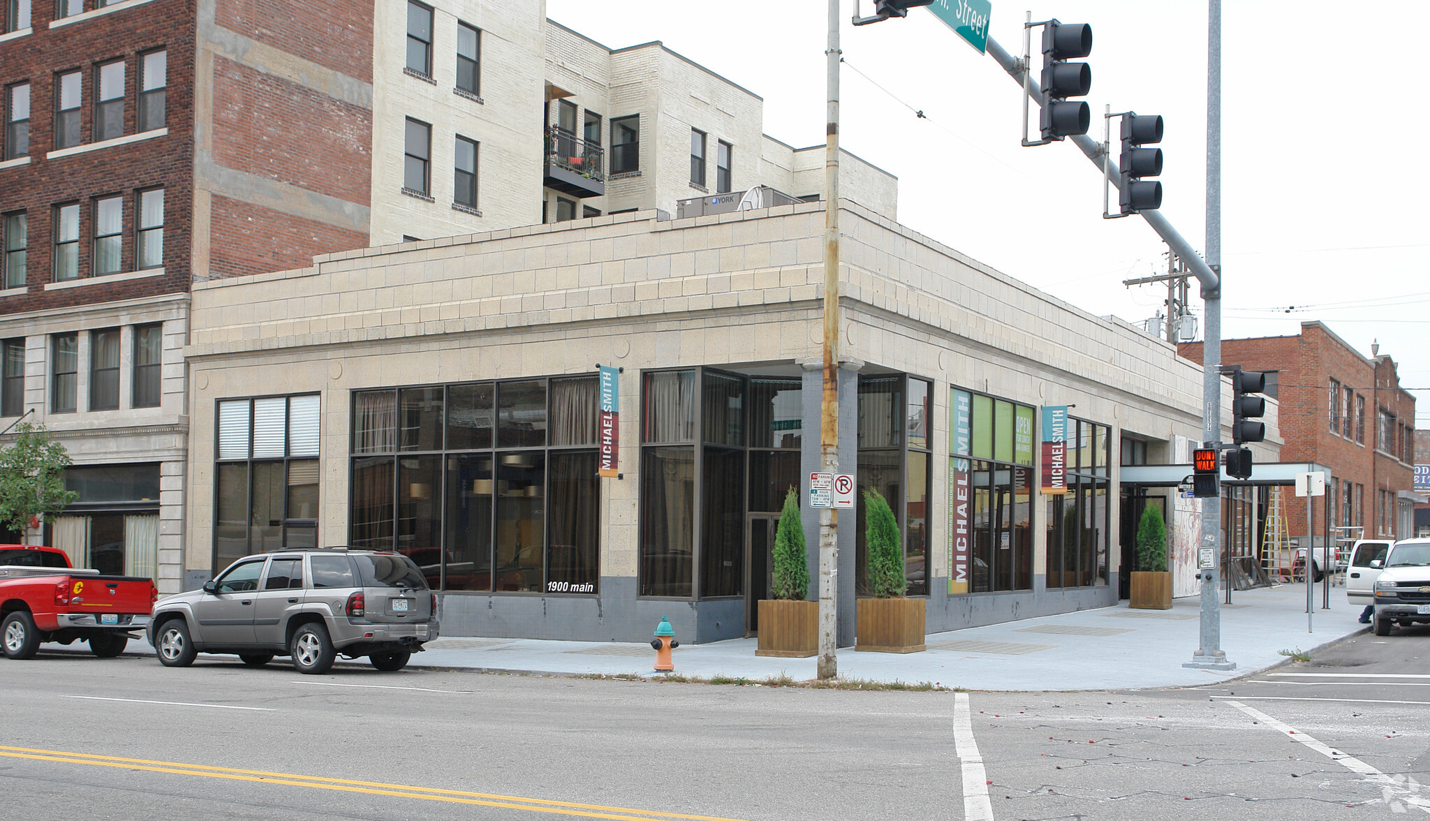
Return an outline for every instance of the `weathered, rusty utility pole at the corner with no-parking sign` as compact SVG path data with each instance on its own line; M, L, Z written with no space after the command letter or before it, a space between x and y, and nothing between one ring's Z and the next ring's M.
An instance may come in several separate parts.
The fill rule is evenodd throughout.
M825 49L827 102L824 156L824 392L819 399L819 469L839 472L839 0L829 0ZM839 674L838 636L839 512L819 509L819 662L818 677Z

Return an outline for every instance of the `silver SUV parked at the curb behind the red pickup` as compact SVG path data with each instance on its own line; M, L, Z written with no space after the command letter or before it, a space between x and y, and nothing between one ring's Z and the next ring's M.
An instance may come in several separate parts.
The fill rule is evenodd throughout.
M398 671L438 638L436 594L400 554L273 551L162 599L147 636L164 667L187 667L200 652L237 654L250 667L287 655L299 672L319 674L340 654Z

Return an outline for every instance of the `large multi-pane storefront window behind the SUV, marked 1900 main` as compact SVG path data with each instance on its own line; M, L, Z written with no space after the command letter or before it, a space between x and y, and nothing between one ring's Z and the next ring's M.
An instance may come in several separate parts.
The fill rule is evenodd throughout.
M356 393L350 544L433 589L596 592L596 409L595 376Z

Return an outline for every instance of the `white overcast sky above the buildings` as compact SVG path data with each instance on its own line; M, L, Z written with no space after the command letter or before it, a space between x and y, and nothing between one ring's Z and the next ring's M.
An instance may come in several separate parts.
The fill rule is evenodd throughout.
M1101 174L1071 143L1018 144L1022 92L992 57L927 9L854 29L854 1L841 6L841 147L898 176L899 222L1090 313L1161 309L1165 286L1121 285L1165 270L1160 237L1140 217L1101 219ZM794 146L824 143L827 9L546 0L605 46L661 40L762 96L765 133ZM990 34L1014 56L1030 10L1093 26L1090 136L1105 104L1163 114L1161 212L1204 249L1205 0L992 0ZM1430 164L1414 147L1430 132L1430 3L1224 0L1221 26L1223 336L1320 320L1366 356L1379 339L1430 428ZM1200 320L1195 280L1191 293Z

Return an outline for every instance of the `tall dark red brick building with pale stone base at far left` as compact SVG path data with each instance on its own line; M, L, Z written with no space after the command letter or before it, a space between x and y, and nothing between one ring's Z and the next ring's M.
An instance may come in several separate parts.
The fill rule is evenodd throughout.
M0 3L0 428L80 492L31 541L180 588L190 286L368 245L372 64L370 3Z

